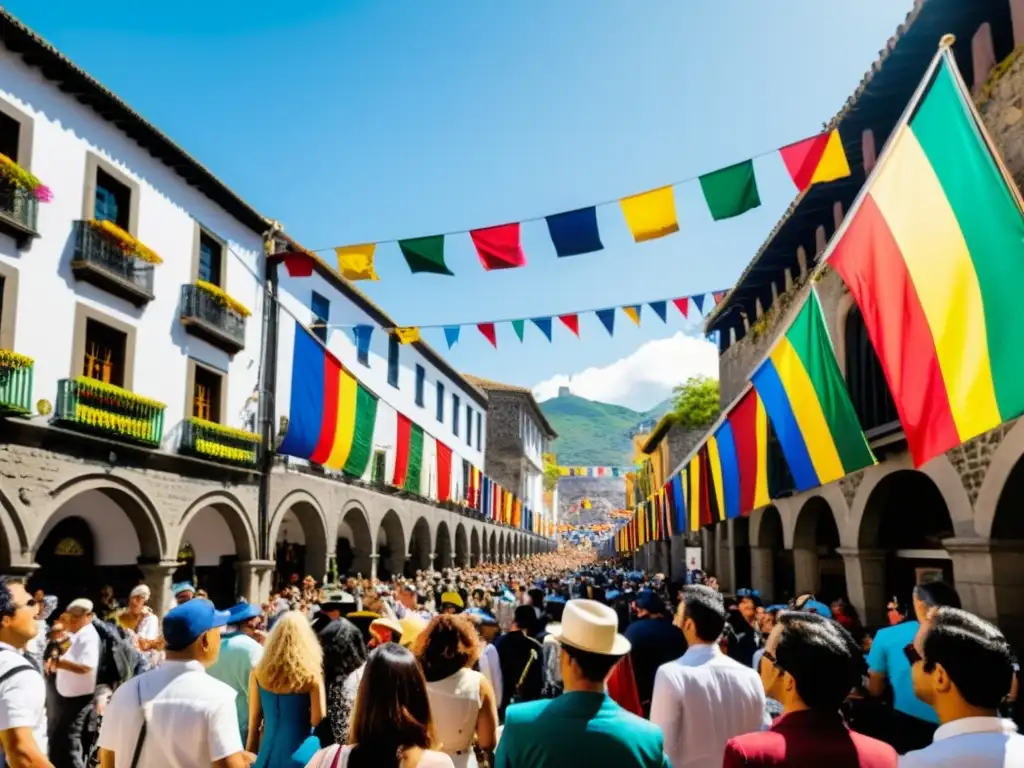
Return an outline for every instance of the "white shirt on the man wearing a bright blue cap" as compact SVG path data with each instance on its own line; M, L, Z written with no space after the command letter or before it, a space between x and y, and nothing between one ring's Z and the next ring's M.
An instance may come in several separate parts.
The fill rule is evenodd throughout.
M99 746L114 753L115 768L131 765L143 709L138 768L195 768L242 752L230 686L199 662L168 660L122 685L106 705Z

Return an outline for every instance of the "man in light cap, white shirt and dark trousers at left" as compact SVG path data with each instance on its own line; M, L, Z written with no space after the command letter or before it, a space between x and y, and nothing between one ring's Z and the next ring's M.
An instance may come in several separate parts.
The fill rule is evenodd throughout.
M60 697L50 759L57 768L85 768L82 734L96 693L99 633L92 626L91 600L73 600L67 612L68 630L73 634L68 651L53 663Z

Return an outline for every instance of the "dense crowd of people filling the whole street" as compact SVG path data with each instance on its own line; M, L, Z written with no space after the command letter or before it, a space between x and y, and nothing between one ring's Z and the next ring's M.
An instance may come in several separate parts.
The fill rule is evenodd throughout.
M15 768L1024 766L1019 667L949 585L862 627L563 549L220 610L0 583ZM162 618L158 613L163 613Z

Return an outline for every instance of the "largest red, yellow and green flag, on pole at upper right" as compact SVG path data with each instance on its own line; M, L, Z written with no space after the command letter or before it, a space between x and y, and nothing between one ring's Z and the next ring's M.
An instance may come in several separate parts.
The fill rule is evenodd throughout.
M913 462L1024 413L1024 219L948 48L830 255Z

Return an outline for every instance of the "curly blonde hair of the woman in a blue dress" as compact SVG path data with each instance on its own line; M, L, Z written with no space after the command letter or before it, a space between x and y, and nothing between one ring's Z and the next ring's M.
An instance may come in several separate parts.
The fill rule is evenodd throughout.
M253 674L264 690L299 693L319 681L323 665L324 651L309 621L299 611L290 610L270 631L263 657Z

